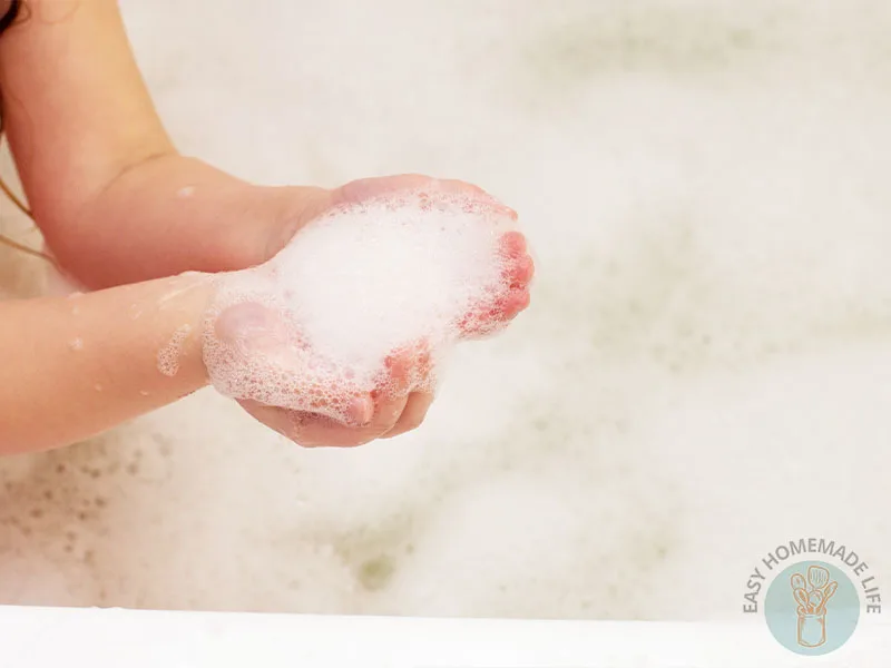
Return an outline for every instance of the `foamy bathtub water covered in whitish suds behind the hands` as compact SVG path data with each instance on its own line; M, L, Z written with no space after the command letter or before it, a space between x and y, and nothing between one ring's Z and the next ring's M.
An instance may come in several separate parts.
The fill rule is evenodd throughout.
M734 621L810 536L891 586L891 4L121 6L185 153L478 183L538 284L394 441L203 392L0 462L0 601Z

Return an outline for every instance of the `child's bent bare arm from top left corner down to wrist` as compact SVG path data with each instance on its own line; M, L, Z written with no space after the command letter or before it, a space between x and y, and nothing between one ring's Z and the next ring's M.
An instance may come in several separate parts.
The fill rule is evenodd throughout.
M258 264L325 194L177 155L115 0L28 0L0 37L0 92L37 224L89 288Z

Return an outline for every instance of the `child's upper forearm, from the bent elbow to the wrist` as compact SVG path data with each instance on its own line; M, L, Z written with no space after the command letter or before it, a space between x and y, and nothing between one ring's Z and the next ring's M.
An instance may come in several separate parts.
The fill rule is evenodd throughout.
M97 289L186 271L243 269L284 244L305 198L246 184L200 160L168 156L128 170L50 233L50 248L81 285ZM98 259L98 262L97 262Z

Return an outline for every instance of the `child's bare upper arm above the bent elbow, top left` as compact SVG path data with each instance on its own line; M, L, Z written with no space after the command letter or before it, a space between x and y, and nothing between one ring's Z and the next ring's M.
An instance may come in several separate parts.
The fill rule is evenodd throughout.
M115 0L28 0L0 40L3 120L31 207L55 218L173 146Z

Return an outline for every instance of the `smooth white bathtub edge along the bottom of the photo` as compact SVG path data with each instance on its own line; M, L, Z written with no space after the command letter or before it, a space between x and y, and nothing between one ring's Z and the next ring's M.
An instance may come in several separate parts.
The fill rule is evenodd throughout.
M0 607L4 668L884 666L891 625L801 657L763 621L454 620Z

